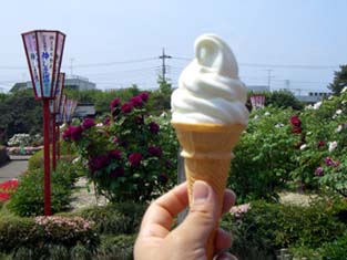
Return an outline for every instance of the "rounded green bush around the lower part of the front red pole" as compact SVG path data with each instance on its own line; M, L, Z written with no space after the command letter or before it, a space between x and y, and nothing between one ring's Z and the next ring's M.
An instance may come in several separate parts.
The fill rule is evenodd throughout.
M68 166L61 166L69 168ZM51 173L52 214L69 209L74 176L69 170ZM43 215L44 174L42 169L28 171L20 176L17 191L11 196L8 208L18 216Z

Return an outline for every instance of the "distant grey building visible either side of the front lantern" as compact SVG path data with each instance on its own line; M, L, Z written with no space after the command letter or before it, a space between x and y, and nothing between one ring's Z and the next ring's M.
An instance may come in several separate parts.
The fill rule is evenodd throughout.
M65 86L69 86L73 90L79 90L79 91L86 91L86 90L95 90L96 84L93 82L90 82L89 79L78 76L78 75L70 75L65 77L64 82ZM10 90L10 92L16 92L20 90L25 90L25 89L32 89L32 83L31 81L28 82L18 82L13 85L13 87Z

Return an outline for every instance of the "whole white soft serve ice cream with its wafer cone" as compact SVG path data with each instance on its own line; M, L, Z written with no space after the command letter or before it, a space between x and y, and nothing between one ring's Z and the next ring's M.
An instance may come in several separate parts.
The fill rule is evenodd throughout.
M195 41L195 59L182 72L171 101L171 124L182 146L190 204L193 184L204 180L216 191L218 214L232 152L248 123L246 87L237 74L231 49L216 35L204 34ZM206 242L207 260L213 259L217 227Z

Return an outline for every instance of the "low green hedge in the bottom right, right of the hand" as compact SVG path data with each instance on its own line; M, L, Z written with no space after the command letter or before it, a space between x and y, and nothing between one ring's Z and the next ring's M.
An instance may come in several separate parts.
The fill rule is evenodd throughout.
M275 256L280 248L318 248L336 240L347 227L335 215L324 202L299 207L254 201L248 211L226 216L222 225L233 232L234 253L248 259L251 251Z

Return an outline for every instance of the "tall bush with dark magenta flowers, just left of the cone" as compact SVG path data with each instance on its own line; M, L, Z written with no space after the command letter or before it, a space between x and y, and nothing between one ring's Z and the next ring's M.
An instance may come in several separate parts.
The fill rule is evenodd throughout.
M102 123L85 118L63 133L89 167L96 190L111 201L146 201L172 184L172 142L147 111L146 92L126 102L114 98Z

